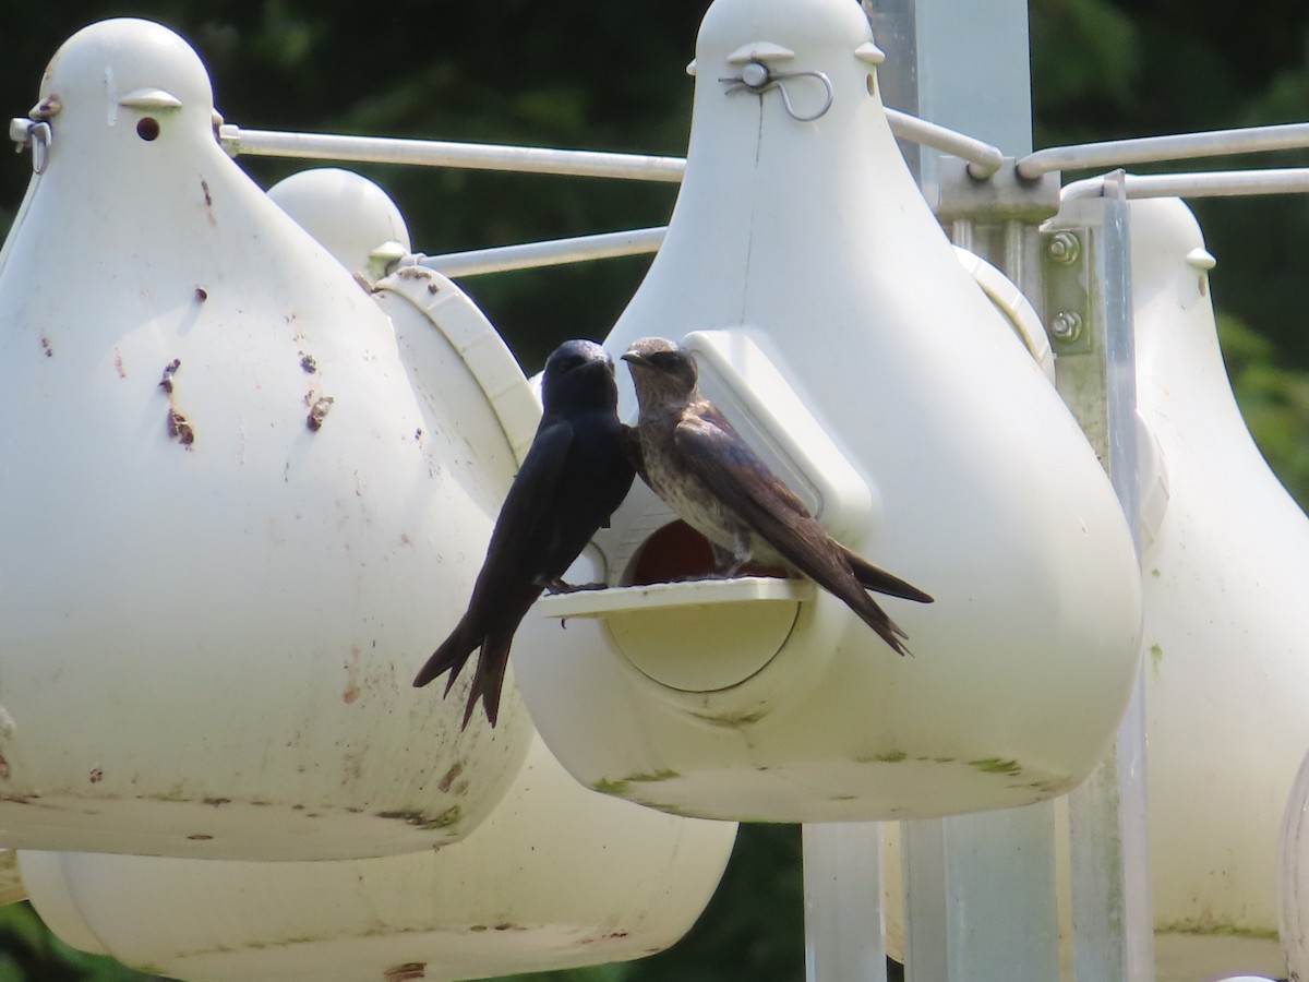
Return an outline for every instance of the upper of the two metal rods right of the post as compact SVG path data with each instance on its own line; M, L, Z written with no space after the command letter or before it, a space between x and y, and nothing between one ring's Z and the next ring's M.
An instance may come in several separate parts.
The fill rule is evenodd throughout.
M1202 134L1143 136L1072 147L1049 147L1018 161L1018 177L1038 178L1051 170L1085 170L1160 160L1192 160L1227 153L1257 153L1309 147L1309 123L1212 130Z

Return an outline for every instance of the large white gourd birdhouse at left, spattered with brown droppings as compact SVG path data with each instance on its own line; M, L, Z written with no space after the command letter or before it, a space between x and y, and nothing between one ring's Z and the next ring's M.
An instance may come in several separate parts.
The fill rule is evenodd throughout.
M387 293L425 331L415 390L378 301L220 148L173 33L80 31L33 114L0 257L7 845L323 859L467 834L530 723L511 695L461 735L457 694L411 680L462 611L514 427ZM459 323L530 405L484 318Z

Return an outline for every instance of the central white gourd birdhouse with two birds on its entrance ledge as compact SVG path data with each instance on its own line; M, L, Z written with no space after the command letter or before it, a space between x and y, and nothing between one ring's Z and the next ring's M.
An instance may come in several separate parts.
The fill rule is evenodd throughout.
M937 816L1071 788L1118 723L1140 630L1127 524L905 168L881 59L847 0L712 5L668 238L607 347L682 342L826 529L936 602L878 598L899 657L808 581L664 583L707 566L635 490L593 558L626 588L547 600L565 630L543 619L516 649L586 784L742 820ZM635 422L630 389L620 409Z

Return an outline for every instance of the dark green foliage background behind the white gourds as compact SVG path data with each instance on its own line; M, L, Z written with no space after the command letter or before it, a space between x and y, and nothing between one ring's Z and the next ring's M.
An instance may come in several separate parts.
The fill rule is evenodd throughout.
M853 1L853 0L852 0ZM963 1L963 0L961 0ZM60 0L0 5L0 98L24 115L59 43L141 16L178 30L246 128L423 136L681 155L706 0ZM1309 5L1228 0L1031 0L1035 145L1309 117ZM894 52L891 52L894 56ZM979 80L984 84L984 80ZM1304 165L1305 153L1198 166ZM243 158L264 186L302 165ZM675 187L461 170L359 168L386 187L425 253L656 225ZM1143 169L1144 170L1144 169ZM0 229L27 181L0 165ZM1073 175L1076 177L1076 175ZM1309 196L1196 202L1238 399L1268 461L1309 503ZM569 336L603 336L640 258L503 274L465 287L525 368ZM3 317L3 314L0 314ZM672 951L631 965L533 975L562 982L800 979L798 830L744 827L723 886ZM54 939L26 905L0 909L0 982L145 978ZM529 977L522 977L529 978Z

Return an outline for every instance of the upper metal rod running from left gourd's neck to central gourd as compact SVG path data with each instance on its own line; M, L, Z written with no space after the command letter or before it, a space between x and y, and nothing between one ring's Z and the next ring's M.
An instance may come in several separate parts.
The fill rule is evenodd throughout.
M329 136L268 130L219 127L219 140L228 153L310 160L344 160L368 164L416 164L474 170L514 170L531 174L573 174L627 181L682 179L681 157L648 157L632 153L555 151L543 147L497 147L476 143L403 140L378 136Z

